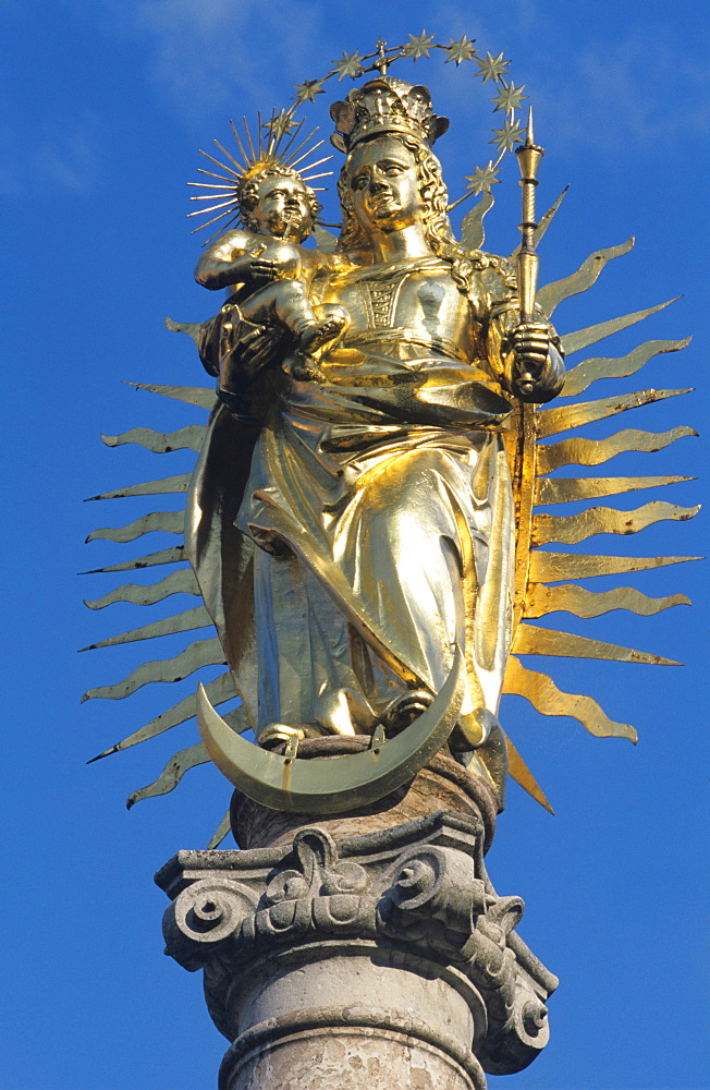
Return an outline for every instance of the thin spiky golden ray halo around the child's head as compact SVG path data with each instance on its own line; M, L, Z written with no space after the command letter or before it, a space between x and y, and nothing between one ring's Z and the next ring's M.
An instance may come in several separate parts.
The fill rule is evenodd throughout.
M215 144L224 156L225 161L216 158L213 155L209 155L207 152L203 152L201 148L199 149L199 154L209 159L215 167L219 167L221 173L216 173L213 170L206 170L201 167L197 168L197 173L205 174L207 178L213 178L216 182L187 182L191 186L210 191L209 193L200 193L192 196L191 201L211 202L204 208L196 208L195 211L187 213L187 217L207 216L210 213L217 213L211 219L195 227L191 233L195 234L197 231L201 231L212 223L224 220L224 222L220 222L219 228L213 234L203 243L204 246L209 245L213 239L234 223L242 222L240 201L242 187L247 179L255 178L262 171L270 169L297 169L303 181L314 192L321 193L325 186L311 185L311 182L320 178L327 178L333 173L332 170L313 173L318 167L329 162L332 159L332 155L323 156L315 161L313 160L315 153L325 143L322 140L311 143L318 132L317 128L302 140L301 143L296 143L305 119L295 121L292 111L284 113L282 110L280 113L277 113L276 110L272 110L269 121L266 122L261 120L261 113L258 113L255 137L252 135L246 118L242 118L242 123L244 125L244 135L240 136L236 125L233 121L230 121L232 135L237 148L236 155L232 155L218 140L215 141Z

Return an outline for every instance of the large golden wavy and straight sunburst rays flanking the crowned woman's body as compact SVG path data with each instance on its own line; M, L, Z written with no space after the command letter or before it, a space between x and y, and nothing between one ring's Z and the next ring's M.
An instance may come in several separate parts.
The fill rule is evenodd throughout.
M259 133L262 134L262 130L269 132L270 135L274 136L273 142L267 140L265 146L264 136L261 136L261 144L258 145L257 142L257 148L254 148L252 157L244 155L244 162L254 165L261 161L259 155L266 158L270 154L274 159L278 158L279 162L283 164L287 159L293 164L297 161L298 155L308 155L302 149L313 138L313 134L298 147L294 147L298 140L301 125L293 122L291 130L289 130L290 119L285 114L283 118L281 116L272 117L272 125L267 123L262 126L259 121ZM286 128L283 128L284 123ZM290 138L284 142L285 146L281 149L280 142L289 132L291 132ZM246 142L249 145L248 138ZM253 146L252 142L250 147L253 148ZM220 164L220 166L222 165ZM233 175L231 181L228 179L231 185L236 184L249 169L248 166L244 167L240 164L235 164L235 166L241 167L242 174L227 168L227 171ZM538 238L551 223L563 195L540 220L537 229ZM480 241L482 241L482 214L490 207L490 199L489 193L483 194L482 204L469 213L470 241L467 241L467 245L472 249L480 245ZM628 253L631 246L632 240L628 240L620 245L596 251L568 277L541 287L538 300L549 313L552 313L564 300L590 289L609 262ZM511 255L511 257L514 256L515 254ZM586 354L586 350L592 346L625 329L631 329L666 305L668 303L661 303L600 322L587 328L568 331L563 338L567 359L577 352ZM595 383L631 378L657 355L685 349L688 340L688 338L648 340L622 356L591 354L584 358L582 362L568 371L562 395L553 405L542 409L535 405L522 407L519 415L516 416L517 426L507 433L510 460L518 500L518 540L515 594L516 631L503 691L526 698L542 715L571 716L577 719L591 735L600 738L617 737L635 740L636 732L629 724L615 722L607 715L592 697L585 693L565 692L558 688L555 681L547 674L530 669L521 659L527 659L530 655L544 655L562 661L570 657L580 657L653 666L670 665L670 661L653 652L579 637L576 633L561 631L556 628L541 627L536 622L558 613L568 613L580 618L600 617L611 610L652 616L670 607L685 605L688 600L680 593L649 597L635 588L626 585L617 585L611 590L608 586L602 590L587 590L577 583L582 580L593 580L596 577L628 576L697 559L690 556L604 555L603 545L597 549L593 544L595 538L600 534L635 535L662 520L684 522L693 518L697 508L680 507L665 500L651 500L633 510L625 507L617 509L597 506L595 502L609 496L623 496L626 493L646 488L676 486L688 480L687 477L660 475L646 477L613 475L555 477L550 474L568 465L580 467L584 474L586 468L605 465L608 461L619 455L628 451L654 453L665 450L678 439L697 435L695 429L687 425L678 425L663 433L627 427L601 438L580 434L582 428L595 422L612 421L622 412L636 413L639 409L642 410L645 405L654 401L687 392L684 389L644 389L589 401L580 399L580 395L584 395ZM135 385L152 393L185 402L201 413L211 410L216 403L213 389L152 384ZM204 423L194 423L171 433L136 427L122 435L102 436L102 439L110 447L136 444L148 451L166 455L179 449L189 449L197 452L201 448L205 434ZM558 438L561 435L563 437ZM164 476L159 480L131 484L100 496L94 496L91 499L184 494L187 486L188 475L182 473L176 476ZM575 510L572 514L538 510L539 506L563 505L570 501L583 501L585 505L591 504L592 506L585 506L584 509ZM562 510L564 511L564 508ZM110 635L91 643L84 650L96 651L192 632L195 632L197 638L193 637L193 642L189 642L186 647L172 657L151 658L148 662L143 662L127 677L112 685L90 689L85 694L85 700L94 698L121 700L133 694L143 686L155 682L174 682L188 678L197 670L205 668L212 670L221 668L218 675L205 686L212 705L224 704L236 695L231 675L229 670L224 669L224 652L219 640L216 639L209 614L203 605L194 604L195 597L198 596L198 588L195 577L187 567L181 537L183 528L183 511L158 510L143 514L126 525L101 526L88 535L87 541L101 540L124 545L139 542L145 535L158 532L171 535L174 542L174 544L170 544L170 538L167 541L163 538L162 548L94 569L96 573L115 574L160 568L163 565L179 566L171 574L158 579L154 583L125 583L114 588L102 597L87 603L90 608L103 609L117 602L150 608L175 594L189 595L193 601L179 600L188 604L189 608L176 606L172 616ZM592 541L591 546L585 545L584 543L589 540ZM582 545L582 549L577 552L575 548L578 544ZM560 550L556 548L554 552L549 550L550 545L553 548L556 546ZM571 548L566 548L567 546ZM544 620L543 623L546 623ZM148 645L154 646L152 642ZM105 749L94 760L148 741L167 730L180 729L194 719L195 713L195 693L189 693L149 723L138 725L127 737ZM224 718L236 731L244 732L249 729L243 707L229 711ZM186 773L207 763L208 760L207 751L200 741L181 749L168 761L152 783L132 792L128 799L130 806L139 800L172 791ZM509 760L511 776L539 802L549 806L524 758L518 754L510 739ZM212 836L209 847L217 847L225 836L228 828L229 818L225 816Z

